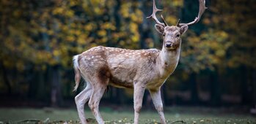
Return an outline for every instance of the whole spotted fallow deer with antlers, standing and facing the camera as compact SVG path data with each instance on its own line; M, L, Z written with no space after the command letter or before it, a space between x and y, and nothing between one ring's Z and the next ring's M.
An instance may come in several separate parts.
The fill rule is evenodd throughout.
M191 23L177 23L168 26L161 16L163 23L156 18L157 9L153 0L153 13L150 17L156 21L156 31L163 36L161 50L128 50L114 47L92 47L91 49L75 55L73 66L75 70L77 90L81 77L87 83L86 88L76 98L78 116L82 124L87 123L84 115L84 104L88 102L89 108L98 123L104 123L100 116L99 103L107 85L117 88L134 88L134 124L139 123L139 112L142 108L142 99L145 89L150 91L153 104L161 118L161 123L166 124L163 104L161 100L161 86L175 70L180 58L180 36L188 26L197 23L205 11L205 0L199 0L199 13Z

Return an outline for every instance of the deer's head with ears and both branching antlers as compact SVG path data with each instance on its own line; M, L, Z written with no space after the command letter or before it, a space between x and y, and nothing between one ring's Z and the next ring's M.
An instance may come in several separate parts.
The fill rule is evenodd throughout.
M193 25L194 23L199 22L201 15L203 12L205 12L205 0L199 0L199 13L197 17L194 19L194 21L190 23L180 23L180 20L178 20L178 23L176 26L168 26L166 21L164 20L163 16L161 15L161 19L163 20L163 23L161 23L156 18L156 12L162 11L162 9L158 9L156 7L156 2L153 0L153 12L152 15L150 15L148 18L153 18L153 20L156 21L156 31L158 31L163 36L163 48L166 50L176 50L178 47L180 47L181 39L180 36L184 34L190 25Z

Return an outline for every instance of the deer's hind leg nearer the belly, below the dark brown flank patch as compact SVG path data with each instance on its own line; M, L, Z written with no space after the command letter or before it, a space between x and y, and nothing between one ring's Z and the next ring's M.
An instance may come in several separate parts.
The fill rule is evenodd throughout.
M89 98L89 108L92 110L92 114L94 115L95 119L99 124L104 123L103 118L101 117L99 112L99 104L108 83L109 78L95 82L94 85L92 85L92 95Z

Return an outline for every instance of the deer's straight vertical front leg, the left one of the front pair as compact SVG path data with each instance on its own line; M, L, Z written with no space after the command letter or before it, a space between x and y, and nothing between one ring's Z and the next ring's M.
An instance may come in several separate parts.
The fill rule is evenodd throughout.
M139 83L134 83L134 124L139 123L139 112L142 109L142 99L144 96L145 87Z

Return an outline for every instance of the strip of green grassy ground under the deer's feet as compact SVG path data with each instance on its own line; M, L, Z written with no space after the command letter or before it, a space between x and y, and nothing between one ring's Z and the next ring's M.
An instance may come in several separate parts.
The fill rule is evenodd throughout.
M100 112L106 123L133 123L134 112L131 110L115 111L102 107ZM89 109L85 114L90 122L94 122ZM171 123L175 120L183 120L186 123L253 123L256 117L241 112L226 112L222 109L200 107L171 107L165 111L165 117ZM159 117L156 111L143 110L140 115L140 123L156 123ZM0 108L1 123L78 123L76 109L31 109L31 108ZM178 122L177 124L179 124Z

